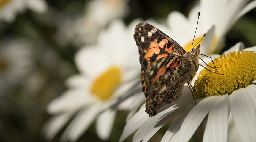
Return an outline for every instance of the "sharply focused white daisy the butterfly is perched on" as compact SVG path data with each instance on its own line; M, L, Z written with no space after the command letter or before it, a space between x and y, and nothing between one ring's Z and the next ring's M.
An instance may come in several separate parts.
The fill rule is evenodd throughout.
M148 141L165 123L173 119L162 141L186 142L207 114L203 141L227 141L230 114L241 140L256 141L256 46L238 51L242 48L243 44L237 43L223 55L211 55L216 57L214 64L219 73L224 75L199 68L200 73L194 83L194 96L198 98L196 106L185 85L181 98L166 105L154 117L148 117L145 104L141 106L128 120L120 141L136 130L133 141ZM210 59L203 59L210 62ZM209 65L213 66L211 62Z

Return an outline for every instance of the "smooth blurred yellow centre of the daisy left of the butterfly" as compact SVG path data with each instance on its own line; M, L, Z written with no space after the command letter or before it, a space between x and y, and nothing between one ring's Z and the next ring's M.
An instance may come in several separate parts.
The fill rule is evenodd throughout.
M91 93L101 100L113 95L114 89L121 83L121 68L110 67L96 78L91 86Z

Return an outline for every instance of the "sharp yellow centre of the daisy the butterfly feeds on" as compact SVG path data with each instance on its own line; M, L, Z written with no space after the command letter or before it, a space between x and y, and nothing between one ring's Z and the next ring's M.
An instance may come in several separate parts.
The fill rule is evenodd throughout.
M194 84L194 95L198 98L231 94L245 88L256 80L256 53L254 51L229 52L214 59L219 75L203 69ZM213 67L212 63L208 64ZM215 69L207 67L216 72Z

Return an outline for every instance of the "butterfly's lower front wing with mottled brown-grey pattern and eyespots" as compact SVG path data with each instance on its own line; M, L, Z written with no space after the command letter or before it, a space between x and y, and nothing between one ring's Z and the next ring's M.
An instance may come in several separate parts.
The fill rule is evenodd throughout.
M191 62L189 59L170 55L155 60L144 73L148 96L146 112L154 116L165 104L180 98L184 84L190 79L186 76Z

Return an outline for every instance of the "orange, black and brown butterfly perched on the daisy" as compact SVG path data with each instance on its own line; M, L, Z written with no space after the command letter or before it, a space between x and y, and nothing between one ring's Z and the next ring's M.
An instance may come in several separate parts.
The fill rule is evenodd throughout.
M148 23L136 25L134 39L140 54L146 112L151 117L165 104L177 101L184 84L189 84L195 77L200 45L186 52L176 41Z

